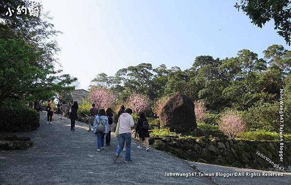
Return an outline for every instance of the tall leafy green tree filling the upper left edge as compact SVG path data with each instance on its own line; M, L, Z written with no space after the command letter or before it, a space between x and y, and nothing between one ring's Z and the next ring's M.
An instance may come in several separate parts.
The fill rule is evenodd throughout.
M65 84L76 81L62 70L55 70L59 51L51 36L59 32L42 14L39 17L20 14L9 17L8 7L24 5L31 7L28 0L6 0L0 2L0 104L8 100L39 100L53 96L57 90L66 89Z

